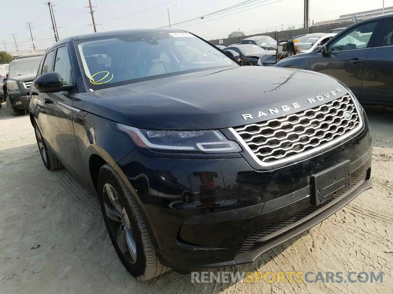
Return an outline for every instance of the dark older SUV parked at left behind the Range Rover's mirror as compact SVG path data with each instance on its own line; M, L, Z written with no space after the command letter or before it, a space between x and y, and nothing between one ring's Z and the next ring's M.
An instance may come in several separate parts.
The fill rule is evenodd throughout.
M37 75L42 56L29 54L15 58L9 65L6 80L6 104L9 113L18 116L26 113L30 102L30 85Z

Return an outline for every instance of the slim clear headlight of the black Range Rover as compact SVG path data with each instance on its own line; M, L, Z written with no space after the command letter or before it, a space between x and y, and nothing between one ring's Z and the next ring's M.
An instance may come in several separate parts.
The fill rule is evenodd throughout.
M149 131L117 124L120 131L127 133L136 145L167 151L204 153L240 152L236 142L227 140L220 131Z

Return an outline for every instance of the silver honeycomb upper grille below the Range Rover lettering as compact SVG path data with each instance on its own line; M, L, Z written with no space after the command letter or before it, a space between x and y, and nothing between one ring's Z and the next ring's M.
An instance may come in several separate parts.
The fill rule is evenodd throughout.
M271 165L349 136L358 125L354 102L344 95L306 111L235 128L235 132L262 165Z

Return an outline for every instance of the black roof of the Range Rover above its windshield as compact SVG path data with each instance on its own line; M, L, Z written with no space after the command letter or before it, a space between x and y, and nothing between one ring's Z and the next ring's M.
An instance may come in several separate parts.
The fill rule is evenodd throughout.
M126 30L118 30L118 31L105 31L105 32L90 33L90 34L81 34L81 35L75 35L59 40L57 43L51 45L46 51L50 51L54 47L57 47L58 45L61 44L65 44L69 41L89 40L95 38L116 37L116 36L133 35L133 34L135 35L149 34L149 33L189 33L189 32L179 29L126 29Z

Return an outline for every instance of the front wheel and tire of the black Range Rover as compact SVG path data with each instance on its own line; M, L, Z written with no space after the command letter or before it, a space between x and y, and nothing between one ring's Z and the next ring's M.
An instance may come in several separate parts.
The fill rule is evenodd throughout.
M124 267L141 280L166 272L168 268L157 259L136 200L109 164L101 167L97 188L110 240Z

